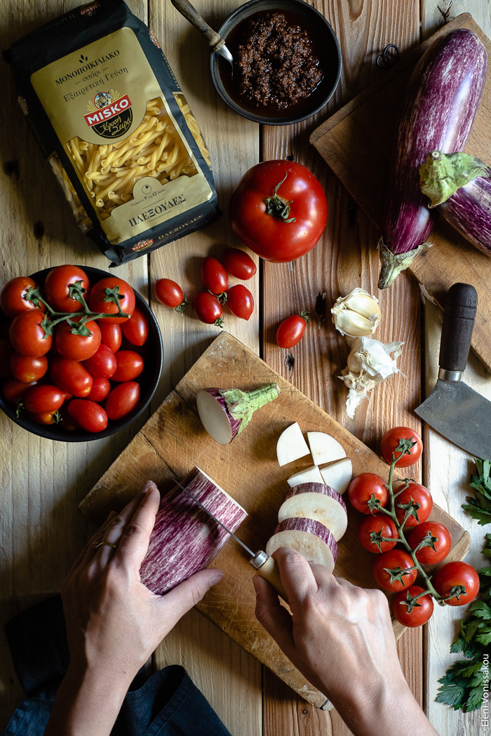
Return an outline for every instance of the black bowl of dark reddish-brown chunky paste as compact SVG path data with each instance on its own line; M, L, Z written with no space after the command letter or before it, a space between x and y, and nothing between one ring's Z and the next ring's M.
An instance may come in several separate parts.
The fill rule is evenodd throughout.
M211 53L213 84L236 113L258 123L305 120L331 99L341 51L331 25L304 0L251 0L219 29L230 66Z

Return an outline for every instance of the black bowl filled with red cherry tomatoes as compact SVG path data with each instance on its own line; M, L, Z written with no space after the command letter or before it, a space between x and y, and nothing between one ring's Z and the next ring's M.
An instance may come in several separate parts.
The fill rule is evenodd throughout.
M38 291L28 292L32 284ZM147 408L162 339L130 284L91 266L55 266L8 282L0 306L0 407L16 424L48 439L88 442L119 432Z

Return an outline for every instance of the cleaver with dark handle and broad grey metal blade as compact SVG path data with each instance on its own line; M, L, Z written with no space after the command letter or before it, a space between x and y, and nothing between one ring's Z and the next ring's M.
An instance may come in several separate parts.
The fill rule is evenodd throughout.
M476 311L476 289L454 283L445 298L437 385L415 411L467 453L491 459L491 401L462 381Z

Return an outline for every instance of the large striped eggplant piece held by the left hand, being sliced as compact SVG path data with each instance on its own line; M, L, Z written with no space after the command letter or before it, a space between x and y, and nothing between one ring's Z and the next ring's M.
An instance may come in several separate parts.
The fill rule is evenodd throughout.
M247 512L222 488L194 467L183 480L194 498L235 532ZM230 539L179 486L163 496L148 551L141 563L141 582L158 595L207 567Z

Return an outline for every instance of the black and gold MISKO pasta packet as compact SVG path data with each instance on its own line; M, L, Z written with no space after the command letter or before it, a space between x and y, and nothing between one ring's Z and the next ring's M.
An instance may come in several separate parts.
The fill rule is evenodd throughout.
M122 0L54 18L6 57L77 223L110 261L216 219L197 121L155 36Z

